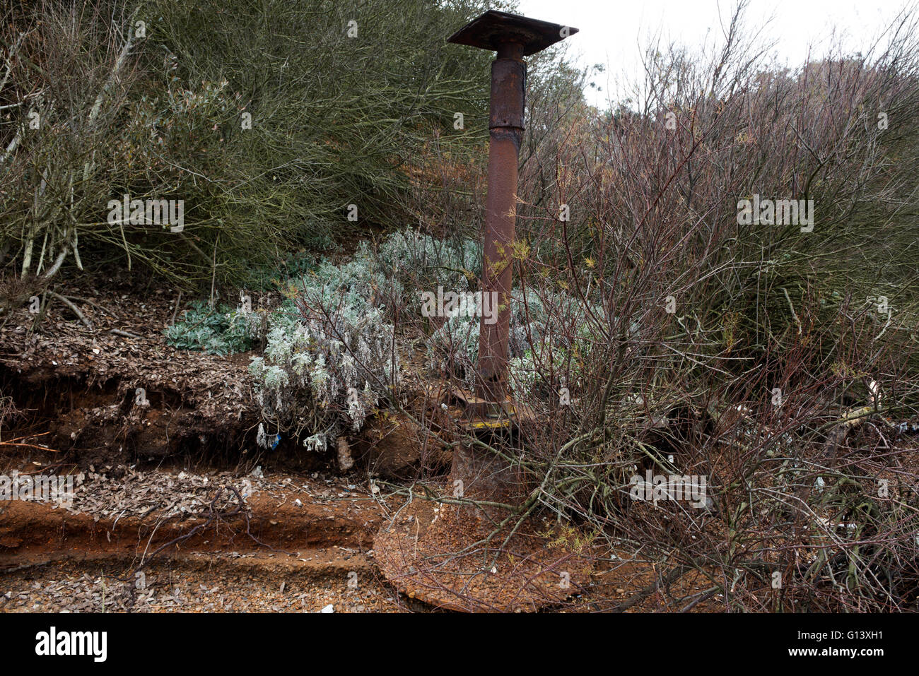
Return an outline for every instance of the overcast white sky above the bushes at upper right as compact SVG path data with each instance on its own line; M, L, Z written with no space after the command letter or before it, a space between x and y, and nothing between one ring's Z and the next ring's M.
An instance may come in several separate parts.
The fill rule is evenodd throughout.
M754 25L774 17L766 39L777 39L781 62L796 67L811 45L815 55L831 43L835 28L851 51L868 51L908 0L751 0L747 16ZM607 107L616 100L617 79L640 72L639 44L658 30L664 43L699 47L721 38L720 19L730 17L734 0L520 0L519 11L531 18L579 28L568 40L583 64L604 63L607 72L596 80L603 87L588 90L588 100ZM750 27L748 27L750 28ZM709 33L709 31L711 31Z

